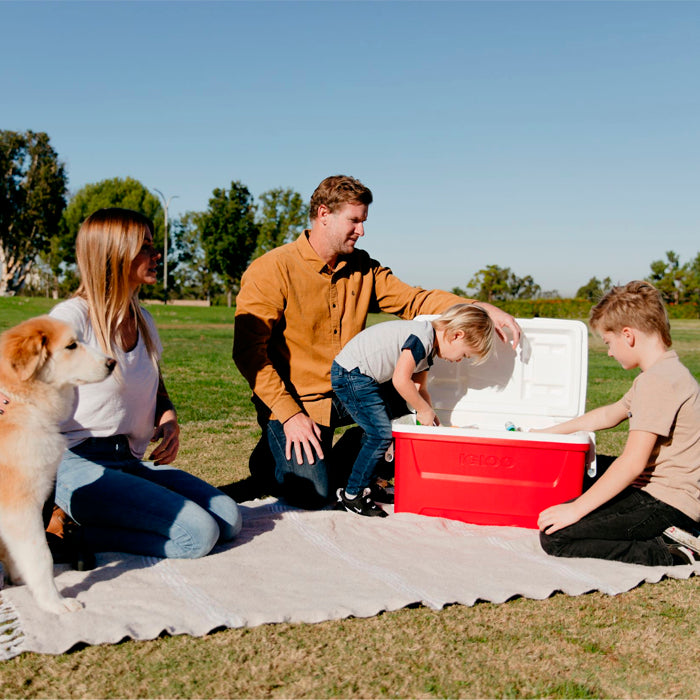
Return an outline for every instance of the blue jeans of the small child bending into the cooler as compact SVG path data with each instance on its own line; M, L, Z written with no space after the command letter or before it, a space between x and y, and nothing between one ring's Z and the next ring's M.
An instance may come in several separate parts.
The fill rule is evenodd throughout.
M358 369L348 371L333 362L331 384L335 395L363 430L360 452L345 487L348 493L362 493L391 445L391 412L380 385Z

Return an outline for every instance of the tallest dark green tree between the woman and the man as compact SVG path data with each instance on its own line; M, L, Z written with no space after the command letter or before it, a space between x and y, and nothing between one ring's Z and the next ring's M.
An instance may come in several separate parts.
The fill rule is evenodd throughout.
M211 272L224 283L228 305L258 240L255 205L248 188L232 182L229 190L215 189L202 214L202 245Z

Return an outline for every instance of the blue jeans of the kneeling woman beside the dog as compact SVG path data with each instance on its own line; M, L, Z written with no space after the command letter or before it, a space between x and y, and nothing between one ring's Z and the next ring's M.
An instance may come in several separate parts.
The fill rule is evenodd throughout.
M195 559L242 526L233 499L192 474L136 459L123 435L66 450L56 503L94 551Z

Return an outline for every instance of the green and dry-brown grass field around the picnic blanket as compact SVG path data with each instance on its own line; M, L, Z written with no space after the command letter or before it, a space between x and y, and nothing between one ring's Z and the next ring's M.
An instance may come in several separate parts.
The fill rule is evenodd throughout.
M0 330L51 306L43 299L0 299ZM151 310L182 422L178 465L240 499L251 495L247 458L259 431L248 387L230 359L233 312ZM675 321L673 334L681 358L700 377L700 321ZM589 408L618 398L633 376L591 338ZM624 427L600 434L600 453L618 454L624 439ZM695 577L615 597L413 608L370 619L223 630L202 639L126 641L58 657L24 654L0 663L0 696L697 698L698 630Z

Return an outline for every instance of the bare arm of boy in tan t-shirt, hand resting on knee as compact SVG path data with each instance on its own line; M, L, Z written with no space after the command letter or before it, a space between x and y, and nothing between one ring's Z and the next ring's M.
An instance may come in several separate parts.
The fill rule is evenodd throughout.
M547 535L578 522L611 498L627 488L643 471L658 435L645 430L630 430L622 454L588 491L569 503L543 510L537 526Z

